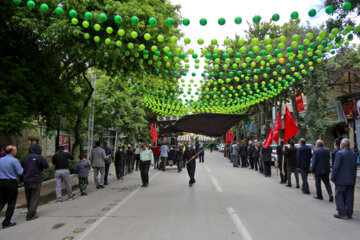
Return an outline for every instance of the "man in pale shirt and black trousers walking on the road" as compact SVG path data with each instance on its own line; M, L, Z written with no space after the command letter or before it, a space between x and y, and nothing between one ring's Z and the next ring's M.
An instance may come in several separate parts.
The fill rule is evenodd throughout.
M141 187L147 187L149 185L150 165L154 164L154 154L146 145L142 145L141 148L136 149L135 154L140 155L140 174L143 183Z

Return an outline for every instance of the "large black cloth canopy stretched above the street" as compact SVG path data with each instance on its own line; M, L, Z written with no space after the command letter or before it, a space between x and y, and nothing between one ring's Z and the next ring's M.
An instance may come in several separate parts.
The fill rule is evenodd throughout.
M180 118L174 125L164 128L167 133L191 132L211 137L224 135L246 115L200 113Z

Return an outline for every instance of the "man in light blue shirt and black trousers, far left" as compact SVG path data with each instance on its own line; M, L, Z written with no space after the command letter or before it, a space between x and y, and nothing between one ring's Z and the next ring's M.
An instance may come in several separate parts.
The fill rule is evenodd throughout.
M11 222L14 214L16 200L18 195L17 176L23 173L23 168L19 160L15 158L17 148L9 145L5 148L5 156L0 158L0 212L7 204L5 219L2 222L2 228L15 226Z

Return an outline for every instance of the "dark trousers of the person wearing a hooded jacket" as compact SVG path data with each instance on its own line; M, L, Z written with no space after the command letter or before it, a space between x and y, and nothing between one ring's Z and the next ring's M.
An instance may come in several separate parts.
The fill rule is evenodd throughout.
M25 197L28 212L27 218L32 218L36 215L36 209L40 200L41 183L25 183Z

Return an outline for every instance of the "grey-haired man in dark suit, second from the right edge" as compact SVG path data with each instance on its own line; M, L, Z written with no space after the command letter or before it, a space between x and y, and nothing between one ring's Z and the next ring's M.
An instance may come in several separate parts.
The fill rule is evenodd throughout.
M322 200L321 181L325 184L329 194L329 201L333 202L334 197L329 181L330 174L330 150L324 147L322 140L316 141L316 150L314 150L311 171L315 175L316 196L315 199Z

